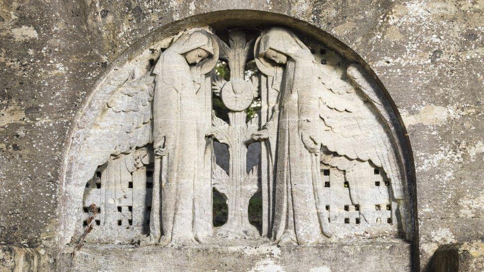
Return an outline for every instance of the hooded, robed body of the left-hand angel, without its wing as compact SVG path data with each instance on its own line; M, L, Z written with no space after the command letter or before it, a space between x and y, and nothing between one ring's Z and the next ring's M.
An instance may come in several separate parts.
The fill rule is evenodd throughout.
M197 129L196 95L200 75L208 73L217 60L218 48L212 35L193 29L182 34L161 54L153 70L156 75L153 101L156 160L150 236L154 242L158 242L162 234L161 244L172 241L181 244L197 238L194 188L199 182L197 157L203 155L199 154L197 145L205 134L199 135Z

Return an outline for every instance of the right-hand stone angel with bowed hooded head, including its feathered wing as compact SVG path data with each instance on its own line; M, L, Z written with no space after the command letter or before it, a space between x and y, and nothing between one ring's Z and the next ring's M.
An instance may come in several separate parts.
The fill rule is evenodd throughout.
M294 33L279 27L261 34L255 57L259 70L268 76L284 68L272 119L253 135L260 140L277 131L273 239L305 245L331 235L316 186L321 182L320 157L346 170L354 204L364 195L358 169L367 161L383 168L392 182L393 198L404 198L404 170L395 144L401 131L395 128L385 99L355 72L355 65L348 68L352 86L326 73ZM365 207L361 209L364 218Z

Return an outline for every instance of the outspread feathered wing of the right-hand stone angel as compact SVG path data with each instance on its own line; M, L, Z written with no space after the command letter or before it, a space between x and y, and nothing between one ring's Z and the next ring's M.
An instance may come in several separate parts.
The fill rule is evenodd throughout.
M353 70L349 69L349 72ZM388 111L382 112L383 105L377 97L381 92L362 77L358 77L357 84L352 82L355 85L352 86L321 71L320 81L321 144L329 152L339 155L327 154L323 156L323 162L342 170L358 161L369 161L382 167L393 184L394 198L403 199L405 176L399 148L395 144L397 129L385 118L389 116Z

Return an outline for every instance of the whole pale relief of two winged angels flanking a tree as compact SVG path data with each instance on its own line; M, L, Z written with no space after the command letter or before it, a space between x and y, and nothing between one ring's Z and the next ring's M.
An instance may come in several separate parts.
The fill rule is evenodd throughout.
M119 83L82 138L100 149L86 153L103 155L85 162L100 165L94 177L79 177L87 184L77 236L89 215L86 241L105 243L263 236L313 245L409 235L403 132L363 67L285 28L226 36L228 43L208 28L186 30L150 49L153 65L130 69L124 80L113 76ZM228 63L228 81L213 72L219 60ZM258 72L247 77L251 60ZM214 97L226 119L214 111ZM254 100L260 110L248 116ZM103 144L110 130L116 143ZM227 145L226 170L216 163L214 141ZM259 160L251 164L255 142ZM227 222L215 228L213 188L228 206ZM247 216L258 192L261 232Z

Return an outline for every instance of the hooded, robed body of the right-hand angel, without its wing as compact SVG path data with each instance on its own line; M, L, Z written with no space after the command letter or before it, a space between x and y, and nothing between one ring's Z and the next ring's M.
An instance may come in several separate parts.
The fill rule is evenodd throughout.
M278 98L275 211L272 237L280 244L315 244L323 237L318 216L317 67L309 49L292 33L273 28L260 39L259 52L272 49L288 57ZM270 121L269 121L270 122Z

